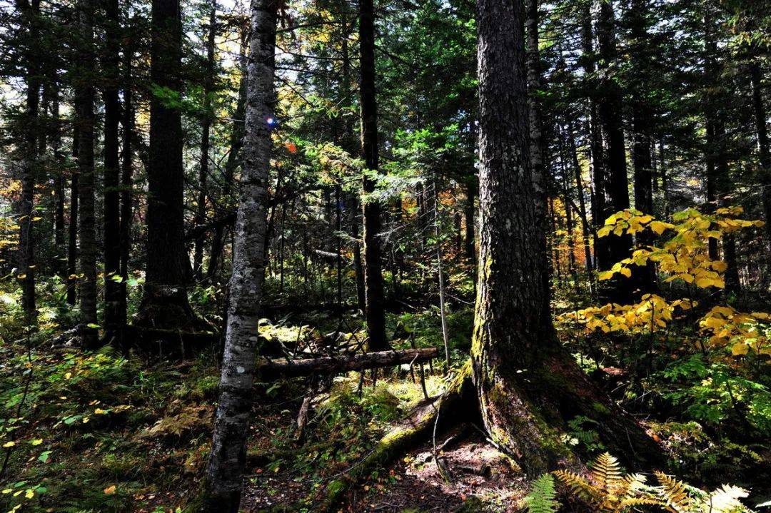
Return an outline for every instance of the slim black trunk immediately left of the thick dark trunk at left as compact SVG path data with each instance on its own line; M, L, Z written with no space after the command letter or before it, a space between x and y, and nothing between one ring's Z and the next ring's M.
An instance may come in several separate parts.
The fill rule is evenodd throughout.
M133 225L133 153L132 142L134 133L134 107L133 91L131 80L131 69L133 61L133 44L129 39L123 48L123 169L120 176L120 276L123 278L118 285L118 308L120 324L126 324L128 290L127 283L129 277L129 258L131 255L131 226Z

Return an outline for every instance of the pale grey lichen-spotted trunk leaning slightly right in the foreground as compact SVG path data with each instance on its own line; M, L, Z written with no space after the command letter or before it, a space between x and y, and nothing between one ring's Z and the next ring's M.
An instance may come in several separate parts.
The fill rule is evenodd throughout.
M274 0L254 0L251 8L246 132L233 275L221 395L207 468L205 505L201 509L212 513L237 513L246 464L264 272L277 8L278 3Z

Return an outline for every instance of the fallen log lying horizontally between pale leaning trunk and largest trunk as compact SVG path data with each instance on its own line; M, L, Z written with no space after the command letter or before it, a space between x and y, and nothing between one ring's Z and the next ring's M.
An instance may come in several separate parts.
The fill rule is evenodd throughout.
M419 363L439 357L437 347L426 349L406 349L378 351L366 354L342 354L339 356L305 358L302 360L287 360L280 358L270 360L261 358L258 361L258 371L262 381L270 381L278 377L301 377L312 374L336 374L346 371L363 371L378 367L389 367Z

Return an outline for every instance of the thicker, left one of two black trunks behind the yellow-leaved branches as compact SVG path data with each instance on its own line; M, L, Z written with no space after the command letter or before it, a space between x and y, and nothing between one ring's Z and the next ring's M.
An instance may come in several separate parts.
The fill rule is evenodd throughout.
M621 119L621 89L615 81L614 73L618 65L615 35L615 17L612 0L603 0L600 3L597 36L601 57L600 87L601 98L598 102L598 114L602 128L608 143L607 169L608 176L604 186L608 191L610 207L613 212L629 208L629 184L627 177L626 146L624 142L624 127ZM605 263L612 265L629 256L631 250L631 235L608 237L608 257ZM616 292L624 287L622 283L615 283Z

